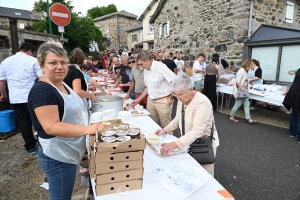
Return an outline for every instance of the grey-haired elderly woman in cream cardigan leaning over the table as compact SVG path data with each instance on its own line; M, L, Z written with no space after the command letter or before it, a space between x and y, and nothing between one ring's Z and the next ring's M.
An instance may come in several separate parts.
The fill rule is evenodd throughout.
M174 142L163 144L161 148L162 154L168 154L177 148L183 149L192 144L197 138L210 136L214 122L210 100L200 92L193 90L193 83L190 77L184 73L179 73L179 75L172 80L171 91L178 99L176 116L166 127L157 130L155 134L163 135L171 133L178 127L182 130L182 109L184 109L185 113L185 134ZM215 138L215 140L213 140L213 151L216 155L217 147L219 146L219 137L215 126L213 137ZM205 164L202 165L202 167L212 176L214 175L214 164Z

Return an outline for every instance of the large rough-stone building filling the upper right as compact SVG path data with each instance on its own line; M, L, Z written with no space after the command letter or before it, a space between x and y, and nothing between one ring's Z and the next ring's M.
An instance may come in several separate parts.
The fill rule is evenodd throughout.
M267 81L290 82L280 80L281 74L286 73L281 69L288 63L281 62L284 49L293 45L285 54L300 54L298 0L160 0L150 23L155 23L155 48L165 47L173 53L182 51L187 66L193 65L200 52L207 55L206 61L218 53L237 67L243 59L254 58L254 55L257 58L264 52L276 60L272 63L276 66L266 70L271 64L260 57L263 78L267 71L274 70ZM278 30L284 33L274 36ZM251 46L254 33L258 32L261 40ZM289 39L289 34L293 39ZM270 45L273 49L264 51L264 47Z

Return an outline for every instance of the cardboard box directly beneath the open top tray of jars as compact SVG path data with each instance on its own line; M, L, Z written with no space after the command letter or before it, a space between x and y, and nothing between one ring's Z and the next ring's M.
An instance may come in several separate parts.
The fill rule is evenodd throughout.
M95 163L112 163L132 160L142 160L144 151L133 151L124 153L100 153L94 154Z

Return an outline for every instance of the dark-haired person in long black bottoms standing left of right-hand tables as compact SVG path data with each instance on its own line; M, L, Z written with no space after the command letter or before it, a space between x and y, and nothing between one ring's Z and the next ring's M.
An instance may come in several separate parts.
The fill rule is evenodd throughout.
M219 58L213 57L212 63L206 66L203 94L210 100L213 110L217 110L217 86L220 85Z

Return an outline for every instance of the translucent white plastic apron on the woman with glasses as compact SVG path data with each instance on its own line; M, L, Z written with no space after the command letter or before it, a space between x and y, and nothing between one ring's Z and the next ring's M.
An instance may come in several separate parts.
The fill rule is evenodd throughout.
M48 82L55 87L50 81ZM64 99L62 122L83 125L82 100L67 84L63 83L63 85L69 90L69 95L60 92L55 87ZM49 139L39 138L39 143L46 156L64 163L79 165L85 153L85 136L75 138L58 136Z

